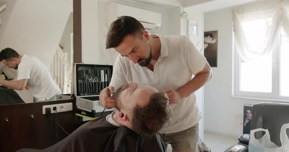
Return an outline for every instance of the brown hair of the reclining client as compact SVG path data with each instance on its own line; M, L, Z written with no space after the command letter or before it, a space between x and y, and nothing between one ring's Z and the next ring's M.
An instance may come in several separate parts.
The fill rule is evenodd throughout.
M133 130L141 135L153 136L169 124L172 115L169 109L169 98L166 93L155 93L150 96L145 108L133 110Z

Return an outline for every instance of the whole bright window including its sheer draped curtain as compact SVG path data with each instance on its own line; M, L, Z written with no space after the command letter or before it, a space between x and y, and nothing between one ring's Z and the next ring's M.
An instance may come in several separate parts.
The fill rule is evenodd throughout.
M288 0L232 8L234 96L289 101L288 13Z

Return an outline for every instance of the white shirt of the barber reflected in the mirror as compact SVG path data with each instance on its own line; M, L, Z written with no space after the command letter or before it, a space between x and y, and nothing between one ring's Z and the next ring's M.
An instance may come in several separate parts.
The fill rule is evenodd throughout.
M48 100L60 92L46 65L36 57L24 55L21 59L17 80L26 78L29 91L38 101Z

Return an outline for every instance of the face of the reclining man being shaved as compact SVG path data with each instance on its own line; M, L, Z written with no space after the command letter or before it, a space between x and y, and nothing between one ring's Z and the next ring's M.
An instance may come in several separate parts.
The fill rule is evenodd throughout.
M114 95L115 107L118 110L125 110L131 117L134 107L144 108L149 102L150 95L154 93L158 91L151 86L139 86L135 82L130 82L117 90L117 94Z

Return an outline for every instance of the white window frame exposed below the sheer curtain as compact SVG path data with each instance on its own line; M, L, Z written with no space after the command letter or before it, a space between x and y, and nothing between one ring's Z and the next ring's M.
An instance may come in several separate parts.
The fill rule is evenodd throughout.
M241 57L239 56L235 48L234 32L233 32L233 85L232 85L232 96L240 98L270 100L270 101L285 101L289 102L289 96L281 96L280 77L280 53L281 53L281 38L279 43L276 45L272 53L272 93L259 93L259 92L245 92L240 90L240 65ZM277 78L278 77L278 78Z

